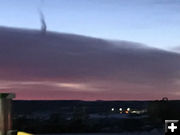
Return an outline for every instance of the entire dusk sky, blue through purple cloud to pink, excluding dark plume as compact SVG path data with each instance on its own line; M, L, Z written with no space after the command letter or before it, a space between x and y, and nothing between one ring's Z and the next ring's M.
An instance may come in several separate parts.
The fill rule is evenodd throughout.
M1 0L0 91L17 99L179 99L179 30L179 0Z

